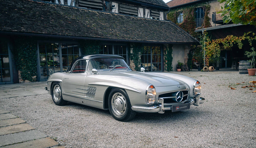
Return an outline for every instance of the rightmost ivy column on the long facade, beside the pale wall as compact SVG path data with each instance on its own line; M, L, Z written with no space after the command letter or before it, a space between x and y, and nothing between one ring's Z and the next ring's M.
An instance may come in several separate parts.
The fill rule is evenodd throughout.
M168 44L166 47L166 51L164 52L164 60L165 62L165 70L173 71L172 62L173 62L173 45Z

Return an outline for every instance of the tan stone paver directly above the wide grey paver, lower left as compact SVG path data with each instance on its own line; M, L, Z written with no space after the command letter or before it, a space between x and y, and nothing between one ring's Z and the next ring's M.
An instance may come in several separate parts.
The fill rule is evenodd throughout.
M30 126L27 123L12 125L12 126L0 128L0 135L17 133L17 132L22 132L22 131L27 131L27 130L32 130L32 129L35 129L35 128L33 128L32 126Z

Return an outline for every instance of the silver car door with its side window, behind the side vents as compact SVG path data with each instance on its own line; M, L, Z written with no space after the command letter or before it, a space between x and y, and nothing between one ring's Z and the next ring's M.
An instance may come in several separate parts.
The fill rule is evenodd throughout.
M74 64L70 73L67 73L62 78L62 88L64 93L85 96L85 78L87 73L86 60L79 60Z

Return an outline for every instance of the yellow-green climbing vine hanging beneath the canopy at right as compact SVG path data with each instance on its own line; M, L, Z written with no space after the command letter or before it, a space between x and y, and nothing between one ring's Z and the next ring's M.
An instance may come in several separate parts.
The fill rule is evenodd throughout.
M234 44L242 49L242 41L247 40L249 45L252 46L252 41L256 40L254 32L244 33L242 36L228 35L226 38L211 40L207 31L204 31L201 37L202 52L205 50L205 63L209 66L210 62L216 62L220 57L221 50L231 50Z

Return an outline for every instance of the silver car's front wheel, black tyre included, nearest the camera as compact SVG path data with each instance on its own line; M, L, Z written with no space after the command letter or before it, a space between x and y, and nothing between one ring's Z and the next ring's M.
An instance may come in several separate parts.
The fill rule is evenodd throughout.
M122 89L114 88L111 90L108 105L111 115L116 120L129 121L136 115L136 112L132 110L127 93Z

